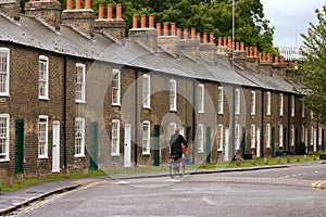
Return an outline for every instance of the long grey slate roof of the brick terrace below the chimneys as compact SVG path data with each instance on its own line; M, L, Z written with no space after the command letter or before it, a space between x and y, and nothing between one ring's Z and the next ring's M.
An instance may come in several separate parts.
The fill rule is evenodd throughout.
M280 77L271 78L264 73L256 74L250 71L236 73L222 60L213 63L201 56L191 58L186 53L175 56L160 48L154 53L137 42L115 42L102 34L89 37L68 26L61 26L60 30L55 30L42 20L24 14L21 14L20 22L16 22L0 12L0 24L1 41L183 77L292 92L292 86Z

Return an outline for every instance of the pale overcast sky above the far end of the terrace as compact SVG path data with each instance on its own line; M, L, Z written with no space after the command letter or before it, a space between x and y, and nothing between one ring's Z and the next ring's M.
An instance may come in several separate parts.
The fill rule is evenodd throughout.
M275 27L275 47L299 47L300 34L306 34L309 23L317 23L315 10L322 10L326 0L261 0L265 18Z

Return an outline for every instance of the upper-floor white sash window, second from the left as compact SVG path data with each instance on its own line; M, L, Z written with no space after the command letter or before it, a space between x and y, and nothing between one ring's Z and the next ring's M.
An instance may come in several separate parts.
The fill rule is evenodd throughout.
M41 65L46 67L45 71ZM45 74L42 77L41 73ZM45 55L39 55L38 60L38 99L49 100L49 58ZM43 93L41 88L43 88Z

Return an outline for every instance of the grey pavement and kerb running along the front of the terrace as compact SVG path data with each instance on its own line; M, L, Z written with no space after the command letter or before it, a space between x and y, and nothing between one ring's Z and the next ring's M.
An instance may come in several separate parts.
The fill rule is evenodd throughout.
M318 161L318 164L326 164L326 161ZM263 165L251 167L235 167L235 168L216 168L216 169L187 169L186 175L196 174L213 174L213 173L233 173L244 170L259 170L259 169L275 169L286 168L291 166L302 166L316 164L316 162L283 164L283 165ZM106 180L122 180L122 179L137 179L137 178L153 178L153 177L168 177L168 171L149 171L149 173L134 173L134 174L113 174L99 177L85 177L78 179L66 178L62 180L40 182L17 189L10 192L0 193L0 216L5 216L12 212L30 205L34 202L42 201L53 194L60 194L74 189L88 187ZM326 180L313 183L313 188L326 189Z

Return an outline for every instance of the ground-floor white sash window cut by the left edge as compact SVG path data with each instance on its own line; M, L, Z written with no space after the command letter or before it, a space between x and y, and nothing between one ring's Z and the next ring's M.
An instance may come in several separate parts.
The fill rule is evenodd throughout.
M0 153L0 162L9 161L9 136L10 136L10 115L9 114L0 114L0 141L2 145L2 153Z

